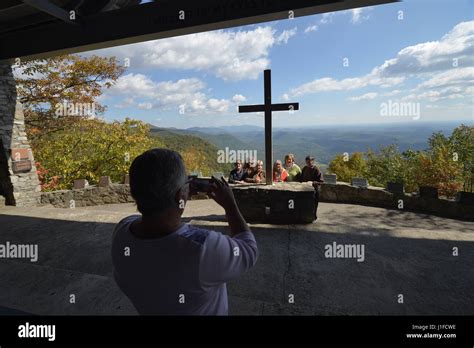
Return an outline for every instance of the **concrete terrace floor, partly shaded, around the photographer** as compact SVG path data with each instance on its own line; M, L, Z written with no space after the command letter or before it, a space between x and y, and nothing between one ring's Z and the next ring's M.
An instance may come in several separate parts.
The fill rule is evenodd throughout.
M39 245L36 263L0 259L0 315L136 314L111 279L109 257L114 224L133 213L133 204L0 208L0 244ZM228 284L230 314L474 314L474 223L330 203L318 216L310 225L252 225L260 257ZM210 200L188 202L184 217L227 230ZM333 242L363 244L365 261L325 258Z

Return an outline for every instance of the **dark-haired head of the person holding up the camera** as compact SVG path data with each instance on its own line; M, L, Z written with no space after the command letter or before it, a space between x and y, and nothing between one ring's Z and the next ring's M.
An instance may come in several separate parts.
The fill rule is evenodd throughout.
M153 215L176 205L175 195L186 182L181 155L169 149L151 149L130 166L130 193L143 215Z

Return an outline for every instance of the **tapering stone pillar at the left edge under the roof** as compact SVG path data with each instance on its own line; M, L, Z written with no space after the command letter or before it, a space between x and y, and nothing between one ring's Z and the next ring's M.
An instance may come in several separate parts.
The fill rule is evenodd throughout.
M0 142L0 195L5 197L7 205L36 206L41 189L9 64L0 64ZM13 161L19 158L12 157L14 149L27 154L26 160L21 159L22 164L31 161L30 170L15 170Z

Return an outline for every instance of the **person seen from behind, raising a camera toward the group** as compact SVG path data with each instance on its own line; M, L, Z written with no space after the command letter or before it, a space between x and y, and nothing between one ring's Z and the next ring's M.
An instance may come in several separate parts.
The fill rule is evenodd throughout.
M230 236L182 223L190 180L179 153L146 151L129 174L141 215L123 219L114 230L117 285L142 315L227 315L226 282L258 258L228 183L212 178L208 196L224 208Z

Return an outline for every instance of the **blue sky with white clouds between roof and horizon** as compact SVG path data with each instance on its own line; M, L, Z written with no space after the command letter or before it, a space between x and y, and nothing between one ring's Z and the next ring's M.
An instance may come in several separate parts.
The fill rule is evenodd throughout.
M274 102L300 103L274 113L275 127L473 122L473 13L474 0L408 0L87 54L130 62L100 98L107 120L263 126L237 106L263 102L270 68ZM419 117L382 115L388 103L418 105Z

